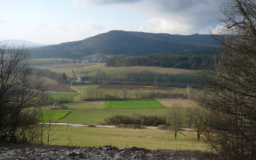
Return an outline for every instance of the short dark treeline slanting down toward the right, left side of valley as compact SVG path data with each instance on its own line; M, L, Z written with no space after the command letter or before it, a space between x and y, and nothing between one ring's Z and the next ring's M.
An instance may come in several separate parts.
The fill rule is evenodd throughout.
M38 74L42 77L48 77L58 82L58 84L68 84L68 77L65 73L53 72L49 69L40 69L32 67L32 70L35 74Z

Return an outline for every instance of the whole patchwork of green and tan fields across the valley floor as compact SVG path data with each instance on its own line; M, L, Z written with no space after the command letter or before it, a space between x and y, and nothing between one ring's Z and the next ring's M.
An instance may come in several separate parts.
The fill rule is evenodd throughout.
M104 70L108 77L124 77L129 72L141 72L150 70L152 72L160 72L167 74L182 74L191 72L191 70L182 70L176 68L160 68L160 67L105 67L103 63L88 63L79 65L49 65L35 66L38 68L48 68L54 72L60 72L72 77L72 70L79 76L86 76L81 72L92 71L88 76L96 76L95 70ZM67 86L59 85L56 81L47 78L47 85L55 92L70 93L51 93L51 97L60 100L68 99L67 103L63 103L68 109L54 110L54 121L69 124L102 124L106 123L105 119L115 115L124 116L167 116L172 107L178 107L182 111L193 105L194 102L182 99L135 99L148 97L148 95L161 95L161 93L179 92L181 95L186 91L185 88L161 88L155 86L134 85L134 84L86 84L73 85L81 93ZM122 99L122 91L127 90L126 100L100 100L100 101L80 101L88 98L89 91L93 91L94 97L99 97L100 93L104 95L117 96L116 99ZM74 102L69 101L72 97ZM46 114L46 113L45 113ZM184 115L184 113L183 113ZM45 118L47 121L48 119ZM186 122L182 127L187 127ZM56 127L57 134L61 137L55 140L51 145L67 145L67 127ZM104 132L104 134L102 134ZM70 127L70 139L72 145L80 146L102 146L115 145L117 147L136 146L149 149L178 149L178 150L205 150L205 144L202 141L195 141L195 132L184 132L179 134L178 140L174 140L174 135L170 131L153 131L138 129L104 129L104 128L88 128L88 127Z

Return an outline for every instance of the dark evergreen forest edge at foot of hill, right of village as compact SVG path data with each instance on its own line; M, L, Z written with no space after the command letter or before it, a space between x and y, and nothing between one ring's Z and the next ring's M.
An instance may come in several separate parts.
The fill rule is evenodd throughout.
M106 61L107 67L176 67L184 69L198 69L210 61L217 61L218 49L181 52L179 54L151 54L142 56L118 56Z

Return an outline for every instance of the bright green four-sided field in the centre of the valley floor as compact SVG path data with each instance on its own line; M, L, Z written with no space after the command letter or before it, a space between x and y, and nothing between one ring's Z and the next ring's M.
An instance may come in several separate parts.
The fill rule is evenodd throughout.
M107 100L104 109L153 109L164 108L156 99Z

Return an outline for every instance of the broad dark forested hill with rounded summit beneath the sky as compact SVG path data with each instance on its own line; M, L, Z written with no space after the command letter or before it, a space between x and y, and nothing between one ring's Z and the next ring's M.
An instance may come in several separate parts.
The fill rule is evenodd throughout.
M33 58L81 58L92 54L134 56L216 48L211 35L109 31L76 42L31 49Z

